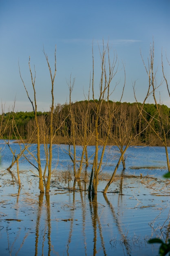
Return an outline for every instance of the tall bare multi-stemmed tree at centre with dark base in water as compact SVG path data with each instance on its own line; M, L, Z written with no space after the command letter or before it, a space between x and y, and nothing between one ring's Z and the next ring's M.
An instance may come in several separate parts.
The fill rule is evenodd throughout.
M110 129L111 129L111 123L112 123L112 112L113 109L110 109L109 104L109 98L110 94L113 93L115 88L111 91L111 81L117 74L118 70L118 63L117 63L117 54L114 53L113 60L110 58L110 49L108 46L108 43L106 47L104 46L103 41L103 48L102 51L99 49L100 58L101 58L101 77L100 77L100 83L99 83L99 99L95 100L95 83L94 83L94 54L93 54L93 48L92 48L92 56L93 56L93 75L92 75L92 93L93 93L93 101L95 103L95 157L93 161L93 167L91 172L91 181L88 187L88 193L89 195L95 195L97 194L97 185L99 181L99 172L101 171L103 157L105 148L108 142L108 138L110 135ZM105 106L106 112L103 117L103 122L106 127L106 136L103 141L99 139L99 130L100 130L100 119L102 118L101 111L102 106ZM99 144L102 144L102 154L99 158ZM93 180L93 181L92 181Z

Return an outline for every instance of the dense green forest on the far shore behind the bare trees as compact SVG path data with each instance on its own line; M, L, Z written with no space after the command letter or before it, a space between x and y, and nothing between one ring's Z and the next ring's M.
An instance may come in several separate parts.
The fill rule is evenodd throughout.
M95 100L96 102L98 100ZM76 123L76 132L77 132L77 137L79 137L79 134L81 132L83 132L83 128L82 128L82 112L85 111L87 109L89 103L89 115L91 115L91 117L89 118L90 123L88 124L89 130L93 129L93 116L95 115L95 104L93 100L88 101L77 101L75 103L72 103L72 109L74 110L74 114L75 114L75 123ZM119 136L119 130L116 127L115 124L115 117L117 120L119 120L120 115L121 115L121 111L122 109L124 110L124 112L126 112L126 115L124 116L124 123L127 120L130 120L131 123L134 123L136 120L136 118L138 117L139 114L139 109L137 108L137 103L120 103L120 102L113 102L113 101L109 101L110 106L113 106L114 104L114 108L116 110L116 116L114 114L113 116L113 125L112 125L112 133L115 137ZM140 103L138 103L140 105ZM61 137L66 137L66 136L70 136L71 137L71 126L75 125L75 124L71 124L71 118L69 116L69 104L63 104L60 105L58 104L57 106L55 106L54 109L54 119L53 119L53 126L54 126L54 130L57 130L56 132L56 137L60 136ZM161 105L160 106L161 109L161 116L163 119L163 124L164 124L164 128L166 130L166 137L167 139L170 139L170 124L169 124L169 118L170 118L170 108L168 108L166 105ZM100 138L102 139L105 136L106 133L106 128L104 126L104 115L105 115L105 111L106 111L106 106L103 103L103 107L102 107L102 111L101 111L101 117L100 117ZM159 133L161 133L161 126L159 124L159 120L157 120L157 108L155 106L155 104L153 103L146 103L144 104L144 115L145 118L140 118L139 121L137 121L136 124L136 128L134 130L134 136L137 134L137 132L139 132L139 130L145 129L144 132L141 132L141 134L139 136L137 136L137 140L138 143L146 143L146 144L150 144L151 143L151 137L152 140L154 135L153 130L147 127L147 123L146 120L149 121L152 119L152 127ZM41 118L43 118L43 120L45 120L46 125L48 126L48 122L50 119L50 112L38 112L37 113L38 118L41 120ZM154 117L154 118L153 118ZM3 113L2 115L0 115L0 124L1 124L1 138L2 139L17 139L16 138L16 127L13 126L13 120L15 120L15 124L16 127L18 129L18 132L20 134L20 136L23 139L29 139L31 131L33 132L33 122L34 122L34 112L7 112L7 113ZM40 121L42 122L42 121ZM63 122L63 123L62 123ZM128 121L129 122L129 121ZM60 127L60 125L62 124L62 126ZM5 129L6 127L6 129ZM60 128L59 128L60 127ZM2 132L5 129L4 132ZM31 130L30 130L31 129ZM123 126L122 126L123 129ZM60 141L63 143L63 141ZM59 142L59 143L60 143ZM78 142L77 142L78 143ZM155 141L155 143L159 144L158 142Z

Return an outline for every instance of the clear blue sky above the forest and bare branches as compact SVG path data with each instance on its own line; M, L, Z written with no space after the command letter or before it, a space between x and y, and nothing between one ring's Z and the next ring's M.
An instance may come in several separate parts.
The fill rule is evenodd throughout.
M72 101L84 100L88 94L92 71L92 44L95 57L95 86L99 87L99 49L102 40L116 52L119 72L113 81L119 82L110 100L119 101L126 69L126 88L122 101L134 102L132 83L136 81L138 101L143 101L148 88L147 74L141 61L155 43L155 70L157 83L162 79L161 50L167 79L170 81L170 0L0 0L0 99L5 112L31 111L20 79L18 62L26 88L33 99L29 74L29 56L32 70L36 70L36 97L38 110L48 111L51 104L51 82L44 54L49 56L52 70L55 45L57 47L57 74L55 103L69 99L67 81L75 78ZM165 87L158 89L161 102L170 106ZM152 98L150 98L152 103Z

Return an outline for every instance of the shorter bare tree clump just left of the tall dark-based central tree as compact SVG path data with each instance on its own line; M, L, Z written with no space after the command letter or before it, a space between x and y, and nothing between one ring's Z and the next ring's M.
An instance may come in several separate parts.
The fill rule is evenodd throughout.
M82 170L84 168L84 156L86 159L86 166L88 165L88 153L87 146L91 140L92 132L88 129L89 122L89 92L88 92L88 101L87 103L75 103L71 101L71 94L75 84L75 79L73 81L67 81L69 88L69 105L68 105L68 117L70 118L70 129L67 132L68 137L68 155L73 162L73 172L75 180L80 180ZM87 137L87 134L89 135ZM82 146L82 153L79 157L76 154L76 141L79 141L79 144ZM73 153L71 152L71 145L73 146ZM80 159L80 160L79 160Z

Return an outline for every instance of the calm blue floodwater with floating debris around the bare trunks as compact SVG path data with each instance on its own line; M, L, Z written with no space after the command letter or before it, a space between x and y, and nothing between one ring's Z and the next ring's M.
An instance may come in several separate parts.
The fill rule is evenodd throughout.
M105 196L107 181L99 181L91 201L88 181L64 180L64 171L72 171L66 146L54 145L51 191L42 195L35 170L24 159L19 164L19 190L16 166L12 174L6 170L12 155L1 142L0 255L154 256L159 245L147 241L170 238L170 182L162 178L167 172L164 148L129 148L126 170L120 166ZM18 144L11 146L19 150ZM89 156L93 150L88 148ZM103 173L112 173L117 154L115 147L107 148Z

